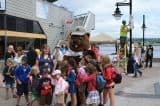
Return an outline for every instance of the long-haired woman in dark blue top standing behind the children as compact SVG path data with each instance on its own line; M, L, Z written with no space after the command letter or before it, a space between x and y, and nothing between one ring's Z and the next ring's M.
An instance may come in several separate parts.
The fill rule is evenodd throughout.
M44 44L41 50L41 55L38 56L36 64L39 66L40 73L43 72L44 67L48 67L48 71L51 73L55 70L56 60L54 56L50 54L50 48L47 44Z

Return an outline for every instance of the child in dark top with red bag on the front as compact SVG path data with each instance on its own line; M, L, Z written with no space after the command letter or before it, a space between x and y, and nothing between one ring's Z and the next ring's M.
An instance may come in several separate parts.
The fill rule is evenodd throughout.
M52 102L52 84L48 78L48 68L44 67L38 89L40 91L40 106L49 106Z

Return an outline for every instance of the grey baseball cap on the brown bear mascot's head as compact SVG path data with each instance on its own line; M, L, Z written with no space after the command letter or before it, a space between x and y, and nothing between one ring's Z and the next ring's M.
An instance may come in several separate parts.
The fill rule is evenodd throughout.
M84 35L86 33L89 33L86 31L86 29L82 26L77 26L74 31L71 33L71 35Z

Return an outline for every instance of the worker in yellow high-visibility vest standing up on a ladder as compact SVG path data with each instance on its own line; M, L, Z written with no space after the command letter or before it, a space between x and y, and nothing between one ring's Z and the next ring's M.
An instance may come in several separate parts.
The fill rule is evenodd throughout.
M123 20L121 28L120 28L120 45L121 45L121 48L124 48L124 45L127 42L127 34L128 34L128 32L129 32L129 28L126 25L126 21Z

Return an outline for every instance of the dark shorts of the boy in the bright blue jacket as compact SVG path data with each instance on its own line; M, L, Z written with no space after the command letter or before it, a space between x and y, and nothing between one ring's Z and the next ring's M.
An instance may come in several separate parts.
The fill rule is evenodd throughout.
M23 93L28 95L28 84L17 84L17 95L21 96Z

